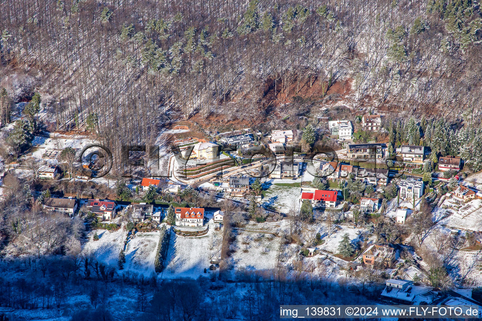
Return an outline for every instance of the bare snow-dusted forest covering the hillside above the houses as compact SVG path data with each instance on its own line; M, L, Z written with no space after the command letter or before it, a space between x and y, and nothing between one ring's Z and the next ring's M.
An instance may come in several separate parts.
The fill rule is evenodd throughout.
M335 82L350 87L353 105L478 122L482 20L471 0L23 0L0 9L10 99L31 95L26 83L50 93L54 128L95 114L116 151L154 141L172 111L257 123L300 88Z

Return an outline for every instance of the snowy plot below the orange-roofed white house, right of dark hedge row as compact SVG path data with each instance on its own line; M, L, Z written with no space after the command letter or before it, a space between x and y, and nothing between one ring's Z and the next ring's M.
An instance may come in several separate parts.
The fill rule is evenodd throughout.
M211 257L221 256L222 231L215 231L212 221L209 224L204 236L184 237L171 232L163 279L196 279L204 274L204 269L209 269Z

